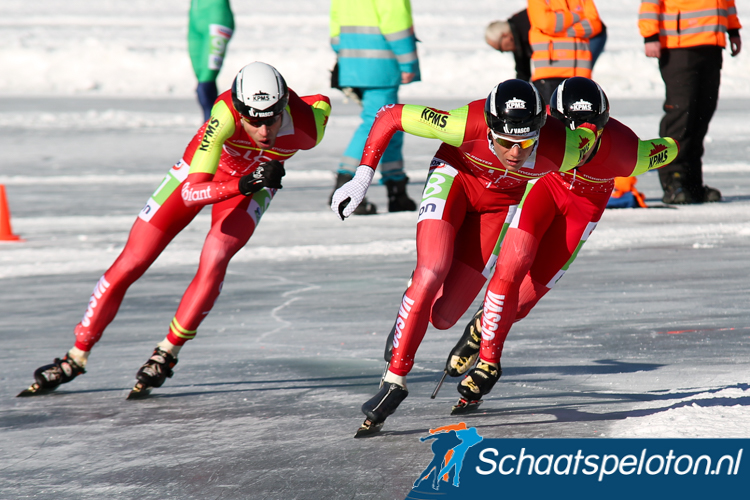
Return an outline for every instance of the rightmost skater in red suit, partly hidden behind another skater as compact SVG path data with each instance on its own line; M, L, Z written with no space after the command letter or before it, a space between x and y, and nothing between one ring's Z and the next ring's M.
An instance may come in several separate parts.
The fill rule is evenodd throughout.
M575 260L604 212L614 178L668 165L679 151L671 138L641 141L610 118L606 94L588 78L564 80L552 93L549 111L568 130L590 129L596 143L577 168L536 182L516 212L500 246L483 308L446 362L446 373L459 376L479 358L458 384L461 399L454 412L476 408L497 382L511 326L529 314Z

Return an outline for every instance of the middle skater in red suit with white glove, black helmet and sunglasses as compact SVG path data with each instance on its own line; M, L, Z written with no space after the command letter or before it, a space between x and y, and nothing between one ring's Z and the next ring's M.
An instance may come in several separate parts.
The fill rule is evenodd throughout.
M390 365L379 392L362 406L357 433L377 432L406 398L406 375L427 330L453 326L482 289L493 249L530 180L574 168L594 142L588 129L547 119L537 90L523 80L498 84L486 99L452 111L385 106L370 130L354 178L333 195L342 220L362 202L391 136L403 131L442 142L430 164L417 222L417 263L393 329Z

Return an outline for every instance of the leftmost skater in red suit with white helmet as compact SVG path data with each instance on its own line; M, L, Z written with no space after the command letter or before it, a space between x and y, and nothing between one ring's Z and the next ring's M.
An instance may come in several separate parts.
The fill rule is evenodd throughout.
M284 162L323 138L330 115L326 96L299 97L272 66L243 67L222 93L182 159L167 173L135 220L114 264L94 287L75 327L75 345L34 373L19 396L52 391L86 372L91 349L114 320L125 292L203 207L211 228L198 271L182 296L169 330L138 371L130 397L172 376L182 346L193 339L219 297L230 259L248 242L284 176Z

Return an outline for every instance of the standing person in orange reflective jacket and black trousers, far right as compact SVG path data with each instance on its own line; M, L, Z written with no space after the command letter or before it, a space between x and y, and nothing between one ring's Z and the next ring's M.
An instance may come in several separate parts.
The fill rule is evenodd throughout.
M666 87L659 134L680 143L677 159L659 171L662 201L721 201L718 189L703 184L703 139L719 99L727 34L732 57L742 48L734 0L642 0L638 27Z

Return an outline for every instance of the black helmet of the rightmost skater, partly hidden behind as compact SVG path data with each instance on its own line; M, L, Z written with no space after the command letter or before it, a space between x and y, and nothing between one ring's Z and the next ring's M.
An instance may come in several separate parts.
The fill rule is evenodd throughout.
M575 76L564 80L552 92L550 114L574 130L583 123L602 130L609 121L609 99L593 80Z

